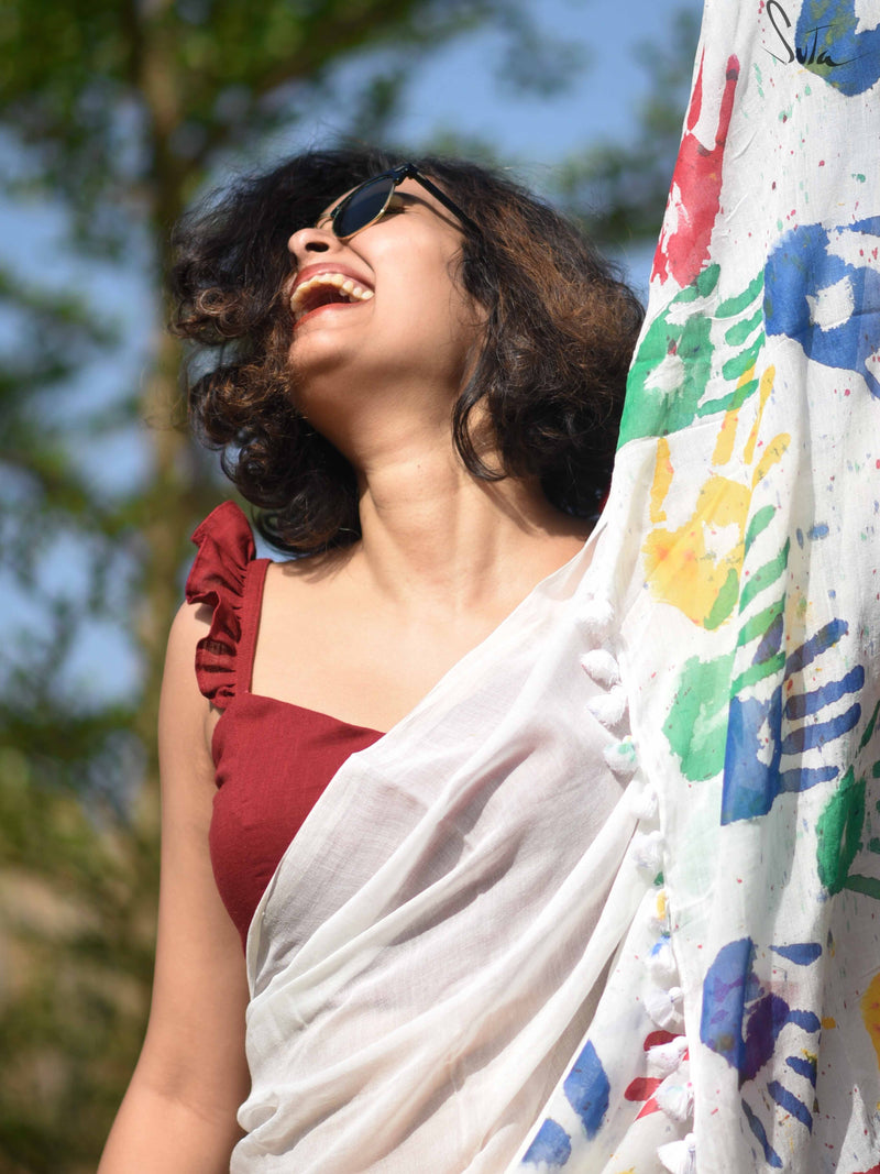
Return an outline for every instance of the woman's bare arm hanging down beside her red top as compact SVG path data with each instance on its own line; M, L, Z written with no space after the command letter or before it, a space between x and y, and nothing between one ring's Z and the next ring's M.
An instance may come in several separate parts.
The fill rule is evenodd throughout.
M219 1174L248 1094L238 933L211 872L215 794L208 701L195 676L202 608L184 605L168 642L160 707L162 880L150 1020L99 1174Z

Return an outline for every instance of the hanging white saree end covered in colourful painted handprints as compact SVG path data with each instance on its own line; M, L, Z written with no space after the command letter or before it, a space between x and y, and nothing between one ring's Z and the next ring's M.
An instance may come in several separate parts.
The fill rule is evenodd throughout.
M878 35L706 2L595 555L664 912L532 1172L880 1172Z

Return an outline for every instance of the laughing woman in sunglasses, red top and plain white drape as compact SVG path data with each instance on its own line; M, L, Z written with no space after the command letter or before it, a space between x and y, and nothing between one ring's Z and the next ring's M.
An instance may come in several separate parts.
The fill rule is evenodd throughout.
M589 1023L610 946L578 966L632 825L556 632L641 308L548 208L436 158L311 153L177 243L176 329L218 351L195 418L299 558L253 562L231 506L196 533L153 1011L102 1174L228 1168L260 899L232 1169L500 1169ZM263 898L291 841L292 938ZM304 973L269 960L293 940Z

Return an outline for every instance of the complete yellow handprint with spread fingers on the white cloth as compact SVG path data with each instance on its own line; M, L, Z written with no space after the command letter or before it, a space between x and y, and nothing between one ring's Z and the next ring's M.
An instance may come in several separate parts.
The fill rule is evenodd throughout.
M742 405L724 416L712 453L709 478L702 486L696 507L684 525L668 528L665 504L675 483L675 468L669 440L657 440L657 458L651 486L650 517L655 528L642 547L645 578L651 592L683 612L693 623L717 628L733 610L739 593L739 575L745 554L745 532L752 494L758 483L776 465L788 447L786 432L764 447L754 461L760 421L776 371L767 367L760 379L759 403L754 423L743 448L743 461L750 475L735 480L720 472L733 457ZM744 372L742 380L752 379L754 370ZM742 382L740 380L740 382ZM684 433L679 433L684 438Z

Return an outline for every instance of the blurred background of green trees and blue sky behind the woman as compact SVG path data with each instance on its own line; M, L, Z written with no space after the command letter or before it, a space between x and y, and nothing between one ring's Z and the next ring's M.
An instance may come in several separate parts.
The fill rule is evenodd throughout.
M154 731L201 518L170 225L340 135L512 168L644 296L698 0L5 0L0 1174L94 1170L141 1044Z

